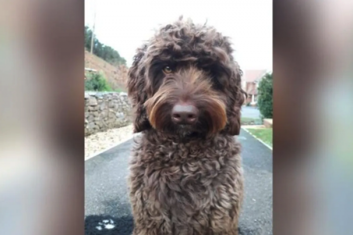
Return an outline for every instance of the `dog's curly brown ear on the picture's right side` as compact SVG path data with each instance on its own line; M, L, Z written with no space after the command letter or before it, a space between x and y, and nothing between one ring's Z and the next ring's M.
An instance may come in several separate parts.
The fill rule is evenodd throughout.
M229 101L227 107L227 126L225 132L228 135L236 136L240 134L241 128L241 108L244 103L246 92L241 87L241 77L243 72L235 66L229 82Z

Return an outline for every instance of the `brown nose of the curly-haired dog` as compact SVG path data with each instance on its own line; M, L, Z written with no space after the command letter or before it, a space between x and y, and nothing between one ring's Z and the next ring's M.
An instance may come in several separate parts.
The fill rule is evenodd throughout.
M176 104L171 111L171 119L175 124L192 125L198 118L198 109L191 104Z

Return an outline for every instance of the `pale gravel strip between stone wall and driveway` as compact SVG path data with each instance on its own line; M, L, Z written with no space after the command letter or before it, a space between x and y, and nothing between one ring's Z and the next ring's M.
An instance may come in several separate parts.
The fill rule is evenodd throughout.
M133 125L109 129L85 137L85 158L133 137Z

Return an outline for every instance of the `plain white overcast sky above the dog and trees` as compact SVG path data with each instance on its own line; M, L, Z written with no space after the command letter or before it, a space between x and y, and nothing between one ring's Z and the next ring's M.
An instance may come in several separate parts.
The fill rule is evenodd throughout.
M132 64L137 47L154 29L178 20L214 26L229 36L242 70L272 70L272 0L85 0L85 25L100 42Z

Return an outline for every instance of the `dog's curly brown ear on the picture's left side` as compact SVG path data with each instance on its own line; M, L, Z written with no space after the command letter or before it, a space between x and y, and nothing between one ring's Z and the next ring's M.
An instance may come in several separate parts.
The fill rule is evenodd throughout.
M151 128L146 109L143 105L147 100L147 94L145 91L145 68L141 60L145 54L146 48L147 45L144 45L137 50L134 56L134 62L128 73L128 94L134 109L134 133Z

